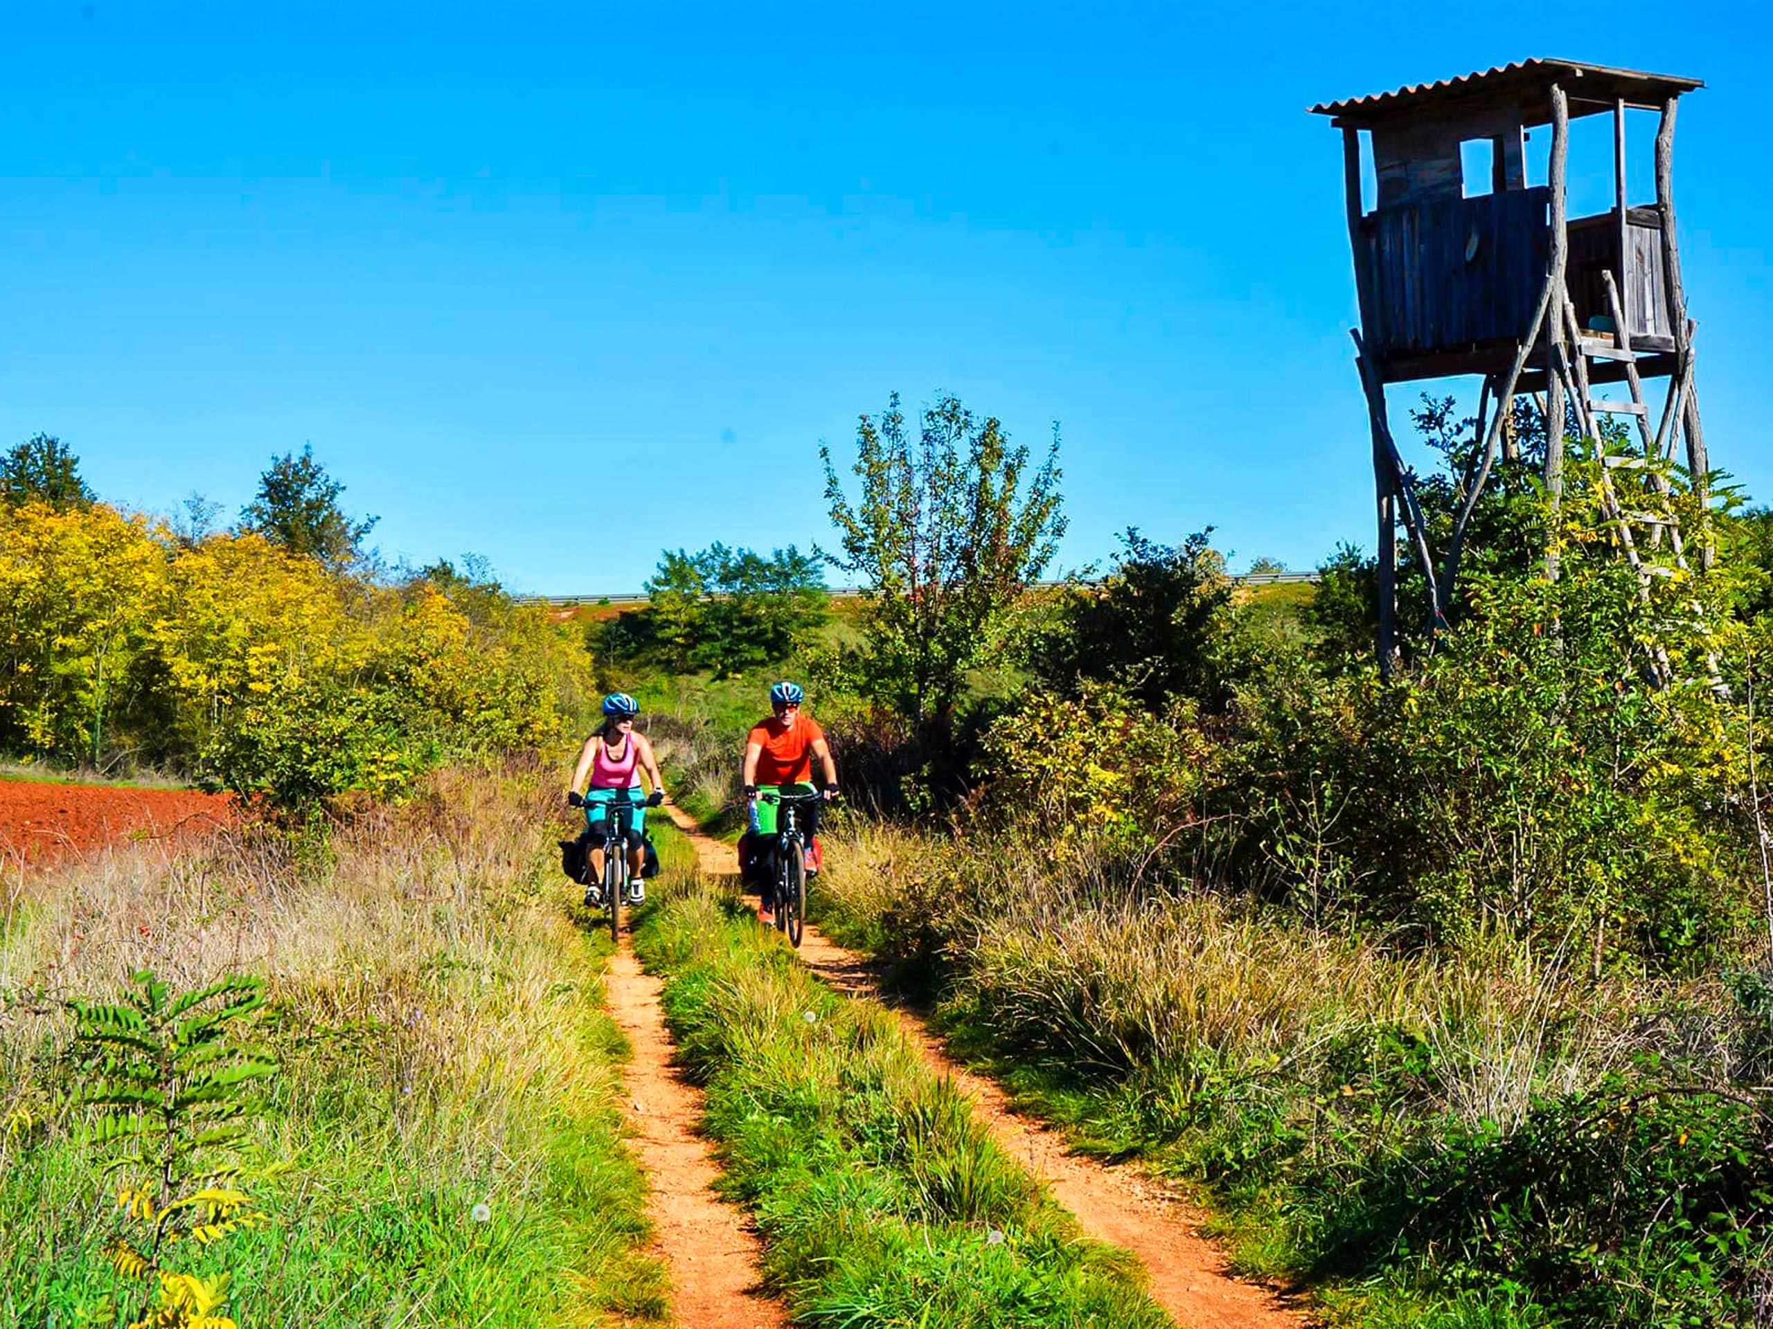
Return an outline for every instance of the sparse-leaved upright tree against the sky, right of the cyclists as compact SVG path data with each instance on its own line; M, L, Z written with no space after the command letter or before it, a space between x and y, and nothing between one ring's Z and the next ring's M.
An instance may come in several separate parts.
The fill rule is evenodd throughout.
M996 418L943 393L913 441L894 393L856 427L855 505L830 447L819 457L844 551L832 562L862 579L867 601L862 691L918 725L947 718L1064 535L1058 427L1030 475L1028 448L1011 447Z

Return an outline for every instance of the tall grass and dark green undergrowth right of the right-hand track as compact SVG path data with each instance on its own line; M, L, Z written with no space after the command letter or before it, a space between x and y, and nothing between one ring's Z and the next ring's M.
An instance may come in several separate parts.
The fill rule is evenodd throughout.
M1401 952L1076 842L878 824L830 836L817 907L1025 1102L1211 1187L1248 1269L1344 1288L1349 1322L1759 1324L1773 1131L1718 978Z

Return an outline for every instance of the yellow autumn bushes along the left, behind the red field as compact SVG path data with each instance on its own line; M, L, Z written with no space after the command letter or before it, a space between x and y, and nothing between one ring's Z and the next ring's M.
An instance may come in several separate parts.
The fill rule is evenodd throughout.
M590 661L493 585L387 585L106 505L0 510L0 750L273 803L399 792L578 723Z

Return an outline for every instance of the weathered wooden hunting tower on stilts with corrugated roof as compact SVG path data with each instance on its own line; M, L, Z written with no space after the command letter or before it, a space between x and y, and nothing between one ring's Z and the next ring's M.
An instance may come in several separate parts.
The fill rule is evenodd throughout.
M1566 400L1578 429L1596 436L1599 413L1636 418L1645 455L1667 457L1686 438L1686 462L1704 484L1706 441L1693 388L1693 324L1686 315L1674 216L1674 115L1695 78L1608 69L1573 60L1521 60L1464 78L1417 83L1312 106L1342 129L1347 229L1360 291L1356 365L1372 424L1379 505L1379 661L1395 659L1397 514L1422 562L1438 624L1459 571L1459 549L1498 447L1512 448L1509 408L1537 397L1546 418L1544 478L1562 494ZM1661 112L1656 202L1626 197L1626 110ZM1613 206L1569 218L1569 122L1613 117ZM1544 184L1528 184L1525 140L1550 126ZM1371 136L1378 198L1362 204L1362 144ZM1488 172L1466 170L1466 145L1488 151ZM1599 163L1596 163L1599 165ZM1447 562L1436 569L1386 420L1390 383L1482 376L1482 441ZM1670 379L1652 427L1645 377ZM1624 383L1629 400L1590 390ZM1486 425L1486 408L1489 420ZM1658 535L1660 540L1660 535ZM1679 549L1679 533L1672 533ZM1624 532L1631 551L1631 533ZM1633 562L1636 562L1633 555ZM1555 574L1555 567L1551 569Z

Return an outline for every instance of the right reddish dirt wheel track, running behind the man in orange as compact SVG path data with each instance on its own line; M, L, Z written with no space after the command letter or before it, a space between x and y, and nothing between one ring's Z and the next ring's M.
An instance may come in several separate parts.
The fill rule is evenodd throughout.
M695 820L668 806L672 820L697 849L702 870L730 877L732 845L702 835ZM881 998L874 968L865 957L828 941L807 927L800 957L826 983L851 996ZM1131 1166L1110 1166L1078 1157L1064 1136L1011 1109L1004 1090L954 1061L910 1010L888 1006L899 1024L940 1074L952 1076L979 1106L993 1138L1051 1189L1083 1230L1099 1240L1133 1251L1151 1274L1151 1292L1184 1329L1294 1329L1308 1318L1268 1288L1225 1271L1225 1255L1200 1235L1202 1214L1161 1184Z

